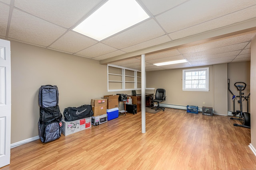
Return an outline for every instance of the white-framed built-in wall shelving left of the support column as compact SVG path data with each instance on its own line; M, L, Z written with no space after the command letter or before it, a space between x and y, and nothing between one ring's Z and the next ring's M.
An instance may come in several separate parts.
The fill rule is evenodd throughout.
M108 92L140 89L141 72L139 70L108 64Z

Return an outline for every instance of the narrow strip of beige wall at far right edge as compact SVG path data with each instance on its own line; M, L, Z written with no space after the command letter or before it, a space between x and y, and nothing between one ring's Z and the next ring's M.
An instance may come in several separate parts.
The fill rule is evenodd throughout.
M251 42L250 106L251 144L256 148L256 38Z

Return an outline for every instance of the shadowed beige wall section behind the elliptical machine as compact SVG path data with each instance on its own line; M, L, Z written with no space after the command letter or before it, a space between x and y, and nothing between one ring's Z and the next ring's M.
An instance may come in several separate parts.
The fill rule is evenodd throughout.
M246 83L246 88L242 92L247 96L250 93L250 61L240 63L229 63L228 64L228 78L230 79L230 90L235 96L239 96L240 92L234 86L236 82ZM239 98L235 100L235 111L240 110L240 104L238 103ZM250 98L249 98L250 101ZM243 111L247 111L247 102L242 100ZM234 104L232 102L232 94L228 92L228 110L234 111ZM250 112L250 103L249 103Z

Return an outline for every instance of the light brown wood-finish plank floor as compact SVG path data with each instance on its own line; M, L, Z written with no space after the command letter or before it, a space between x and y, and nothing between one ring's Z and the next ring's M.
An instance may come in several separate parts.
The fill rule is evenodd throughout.
M256 170L250 129L235 122L166 108L146 113L141 133L141 112L128 113L50 143L38 139L13 148L10 165L0 169Z

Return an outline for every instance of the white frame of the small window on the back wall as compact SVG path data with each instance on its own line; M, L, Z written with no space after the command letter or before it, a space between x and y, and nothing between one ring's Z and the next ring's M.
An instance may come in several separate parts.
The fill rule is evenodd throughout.
M186 88L186 72L196 72L196 71L206 71L206 88ZM208 92L209 91L209 67L204 68L192 68L182 70L182 91L198 91L198 92Z

